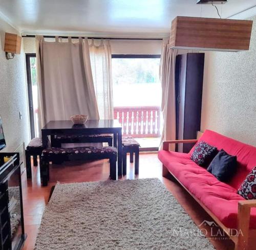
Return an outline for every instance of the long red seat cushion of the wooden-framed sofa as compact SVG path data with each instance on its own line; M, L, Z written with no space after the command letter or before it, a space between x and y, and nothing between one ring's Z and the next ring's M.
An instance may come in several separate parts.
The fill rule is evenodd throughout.
M227 228L237 228L237 189L222 183L206 169L190 160L190 154L161 150L159 160ZM251 210L250 228L256 229L256 209Z

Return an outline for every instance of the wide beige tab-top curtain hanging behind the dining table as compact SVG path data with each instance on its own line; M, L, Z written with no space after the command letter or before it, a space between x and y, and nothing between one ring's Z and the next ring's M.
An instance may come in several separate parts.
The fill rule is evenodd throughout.
M48 42L36 36L36 60L39 129L75 114L99 119L87 39Z

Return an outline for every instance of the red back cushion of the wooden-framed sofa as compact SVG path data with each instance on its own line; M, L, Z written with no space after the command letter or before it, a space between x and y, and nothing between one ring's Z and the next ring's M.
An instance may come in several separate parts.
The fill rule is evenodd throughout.
M224 149L228 154L236 155L238 171L229 181L229 185L238 189L245 180L248 173L256 166L256 147L225 137L211 130L205 130L200 141L205 141L218 150ZM190 150L193 153L195 146Z

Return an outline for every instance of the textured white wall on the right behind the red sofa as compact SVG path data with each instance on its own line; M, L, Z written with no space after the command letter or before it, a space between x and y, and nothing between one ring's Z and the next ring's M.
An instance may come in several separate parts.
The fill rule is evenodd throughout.
M256 21L249 51L205 54L201 130L205 129L256 146Z

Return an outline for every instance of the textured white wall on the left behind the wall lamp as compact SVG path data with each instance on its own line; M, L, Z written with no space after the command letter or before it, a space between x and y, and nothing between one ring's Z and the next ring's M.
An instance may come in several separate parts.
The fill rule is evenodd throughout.
M4 52L5 32L17 34L15 29L0 19L0 116L7 143L3 151L13 151L22 142L26 145L29 141L27 87L23 46L20 55L7 60ZM22 111L22 120L19 120L19 111Z

